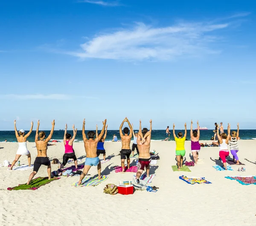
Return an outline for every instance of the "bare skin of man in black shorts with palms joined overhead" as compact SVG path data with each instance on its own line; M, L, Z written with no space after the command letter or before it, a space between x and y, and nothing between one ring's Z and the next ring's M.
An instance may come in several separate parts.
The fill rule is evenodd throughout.
M128 126L130 127L130 134L123 134L122 133L122 126L124 123L127 122ZM132 137L132 127L131 123L129 122L128 118L125 117L125 119L122 121L120 127L119 127L119 134L121 137L122 141L122 149L130 149L130 144L131 144L131 137ZM121 166L122 166L122 172L125 172L125 159L121 159ZM127 167L128 169L130 168L130 158L127 158Z

